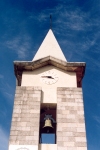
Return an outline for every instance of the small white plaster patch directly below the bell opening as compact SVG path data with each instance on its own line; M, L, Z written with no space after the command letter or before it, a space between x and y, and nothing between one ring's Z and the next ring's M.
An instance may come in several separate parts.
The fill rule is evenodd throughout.
M57 144L39 144L39 150L57 150Z

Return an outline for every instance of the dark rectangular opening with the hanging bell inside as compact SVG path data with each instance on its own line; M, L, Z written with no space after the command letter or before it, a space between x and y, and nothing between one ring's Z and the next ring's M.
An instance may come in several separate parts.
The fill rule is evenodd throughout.
M39 143L56 144L56 104L41 104Z

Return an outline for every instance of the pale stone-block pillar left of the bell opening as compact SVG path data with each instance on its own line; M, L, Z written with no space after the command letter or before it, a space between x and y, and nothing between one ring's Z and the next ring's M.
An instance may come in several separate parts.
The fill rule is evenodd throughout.
M38 145L40 87L16 87L10 145Z

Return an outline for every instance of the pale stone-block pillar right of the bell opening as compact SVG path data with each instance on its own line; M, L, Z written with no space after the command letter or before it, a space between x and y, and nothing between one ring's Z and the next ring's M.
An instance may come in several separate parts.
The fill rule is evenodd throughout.
M57 147L87 150L82 88L57 88Z

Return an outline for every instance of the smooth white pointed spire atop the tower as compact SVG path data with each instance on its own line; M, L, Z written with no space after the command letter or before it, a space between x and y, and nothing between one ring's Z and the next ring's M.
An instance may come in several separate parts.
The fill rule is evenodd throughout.
M67 61L51 29L48 31L32 61L47 56L52 56L63 61Z

